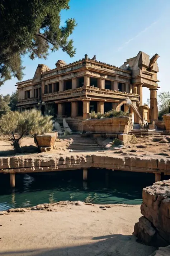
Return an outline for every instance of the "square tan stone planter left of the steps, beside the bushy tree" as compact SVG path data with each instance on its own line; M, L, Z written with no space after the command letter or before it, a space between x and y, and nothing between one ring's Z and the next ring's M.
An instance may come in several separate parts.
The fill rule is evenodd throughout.
M53 149L55 140L58 137L58 133L44 133L42 135L37 135L36 139L38 142L38 147L43 151L50 151Z

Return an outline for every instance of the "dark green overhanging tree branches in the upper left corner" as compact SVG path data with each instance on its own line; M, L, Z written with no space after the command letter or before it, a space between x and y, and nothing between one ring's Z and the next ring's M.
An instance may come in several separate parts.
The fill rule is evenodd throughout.
M47 58L48 51L61 48L73 57L75 19L60 25L60 12L69 9L69 0L2 0L0 3L0 86L12 76L21 80L21 57L29 54Z

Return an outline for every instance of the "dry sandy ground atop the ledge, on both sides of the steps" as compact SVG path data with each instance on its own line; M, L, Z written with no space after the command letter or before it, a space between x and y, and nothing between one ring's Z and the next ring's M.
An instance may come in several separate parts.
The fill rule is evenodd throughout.
M55 142L55 149L50 151L50 154L69 155L70 150L68 146L72 143L73 139L60 139L57 138ZM158 140L158 141L155 141ZM113 140L108 139L108 143ZM102 144L102 142L101 142ZM34 139L31 137L24 137L21 140L21 147L23 153L36 153L37 148ZM46 152L45 152L46 153ZM47 152L49 154L49 152ZM91 154L95 152L90 152ZM74 155L74 152L71 153ZM77 154L77 153L76 153ZM82 154L82 152L80 153ZM142 136L136 138L136 141L129 142L123 148L108 148L104 149L101 154L114 154L115 156L140 156L140 157L153 157L153 158L169 158L170 157L170 136L155 135L155 136ZM8 136L0 135L0 157L14 155L13 147L10 144Z

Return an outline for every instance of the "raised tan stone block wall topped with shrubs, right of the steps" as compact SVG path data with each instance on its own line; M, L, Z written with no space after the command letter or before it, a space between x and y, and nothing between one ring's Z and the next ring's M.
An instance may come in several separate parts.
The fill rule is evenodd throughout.
M91 133L129 133L133 129L132 117L112 117L83 121L83 131Z

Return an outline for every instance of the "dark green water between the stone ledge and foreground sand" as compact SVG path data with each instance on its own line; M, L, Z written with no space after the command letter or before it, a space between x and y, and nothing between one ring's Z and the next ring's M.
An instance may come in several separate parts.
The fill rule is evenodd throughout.
M141 204L142 188L154 183L154 174L89 170L82 182L82 170L49 172L46 175L16 175L15 189L9 174L0 175L0 211L57 201L85 201L98 204Z

